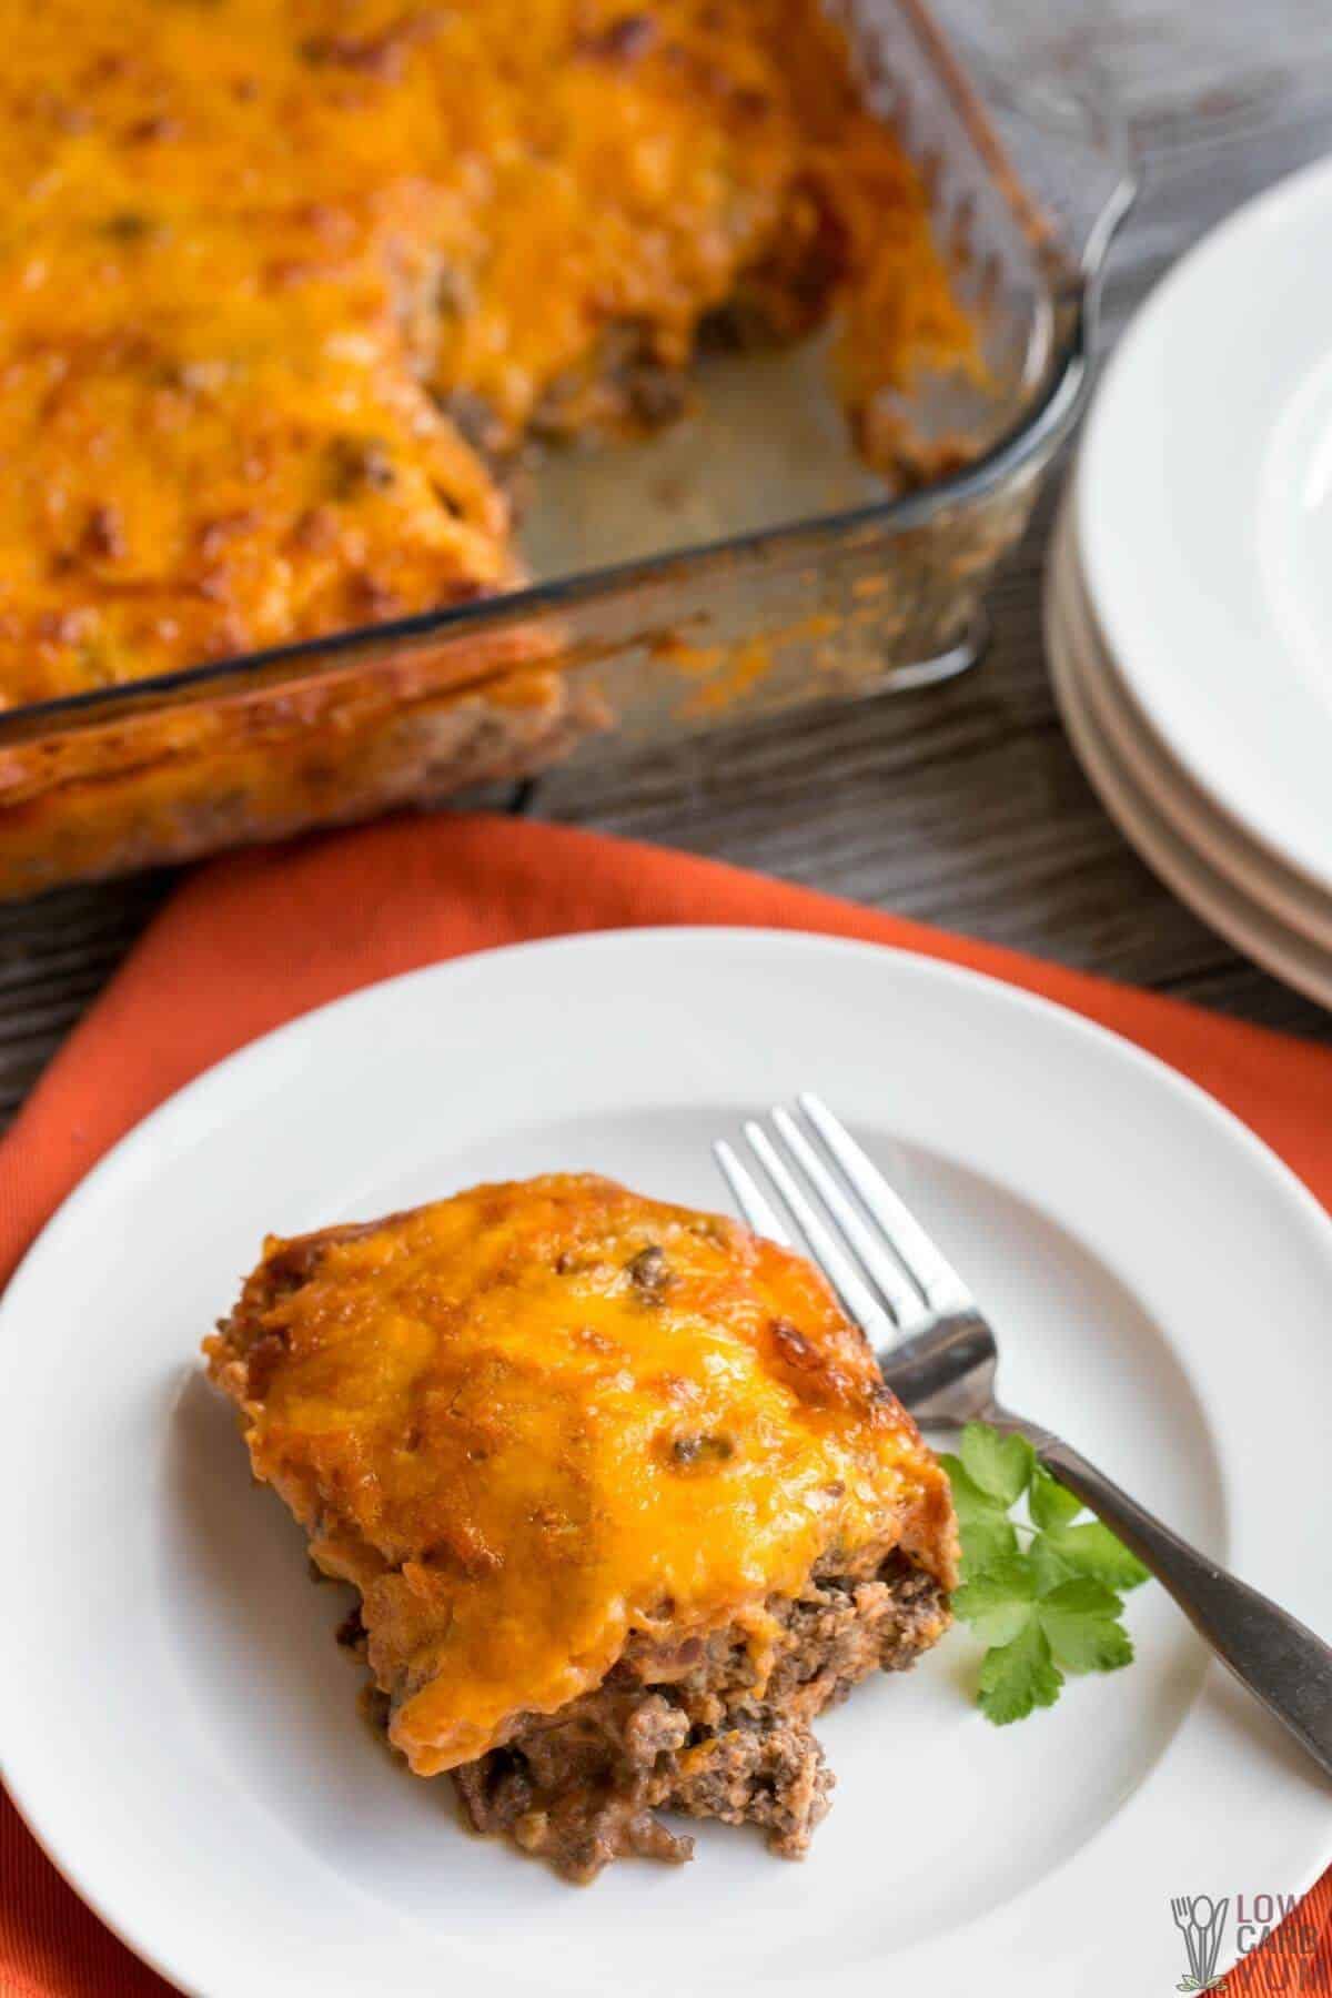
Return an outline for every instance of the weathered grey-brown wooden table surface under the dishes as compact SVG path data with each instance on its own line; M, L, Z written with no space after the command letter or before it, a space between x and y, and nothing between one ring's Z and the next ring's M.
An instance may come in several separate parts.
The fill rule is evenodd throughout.
M963 42L1110 92L1148 164L1112 254L1104 344L1162 270L1258 188L1332 152L1326 0L941 0ZM985 663L951 685L769 723L703 769L555 773L535 811L805 881L1246 1019L1332 1017L1246 963L1136 859L1050 699L1040 571L1058 476L993 595ZM168 873L0 909L0 1121L96 997Z

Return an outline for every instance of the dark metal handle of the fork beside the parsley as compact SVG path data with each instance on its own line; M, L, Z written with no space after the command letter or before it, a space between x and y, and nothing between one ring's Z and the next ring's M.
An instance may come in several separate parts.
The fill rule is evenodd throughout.
M1248 1582L1208 1560L1072 1445L1024 1429L1036 1457L1162 1582L1216 1656L1332 1776L1332 1646Z

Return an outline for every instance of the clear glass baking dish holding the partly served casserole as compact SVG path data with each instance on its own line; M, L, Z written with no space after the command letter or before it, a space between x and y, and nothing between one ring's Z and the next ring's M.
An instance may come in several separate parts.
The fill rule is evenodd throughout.
M1090 108L969 80L921 0L863 0L851 26L985 364L889 412L899 490L857 460L819 342L713 356L685 422L533 474L531 587L0 715L0 895L975 659L985 587L1080 406L1130 178Z

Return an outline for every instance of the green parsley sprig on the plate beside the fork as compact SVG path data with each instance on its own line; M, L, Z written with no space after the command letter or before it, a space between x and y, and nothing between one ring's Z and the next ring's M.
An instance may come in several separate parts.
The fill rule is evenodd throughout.
M983 1644L977 1706L997 1726L1054 1706L1066 1672L1132 1660L1122 1594L1146 1568L1082 1500L1036 1463L1026 1437L969 1423L961 1457L941 1457L963 1534L953 1608ZM1010 1518L1026 1495L1026 1518Z

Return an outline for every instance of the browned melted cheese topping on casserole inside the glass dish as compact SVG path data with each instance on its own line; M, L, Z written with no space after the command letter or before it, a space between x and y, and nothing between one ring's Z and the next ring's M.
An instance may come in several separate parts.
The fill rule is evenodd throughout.
M511 585L477 442L629 414L719 306L781 336L841 294L853 404L967 346L819 0L0 0L0 34L6 703Z

